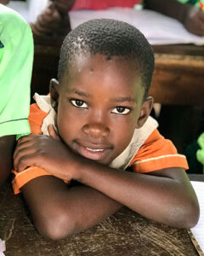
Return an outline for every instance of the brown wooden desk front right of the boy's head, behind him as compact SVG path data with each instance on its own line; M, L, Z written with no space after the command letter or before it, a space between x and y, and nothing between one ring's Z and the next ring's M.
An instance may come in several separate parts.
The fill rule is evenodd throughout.
M156 54L149 95L161 104L204 106L204 57Z

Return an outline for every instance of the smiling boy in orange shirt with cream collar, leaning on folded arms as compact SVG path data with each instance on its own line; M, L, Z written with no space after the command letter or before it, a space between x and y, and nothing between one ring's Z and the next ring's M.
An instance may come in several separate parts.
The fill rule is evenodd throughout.
M163 224L196 224L186 160L149 117L153 68L150 44L122 21L89 20L65 38L51 105L35 96L33 134L14 152L14 191L43 235L80 232L123 205Z

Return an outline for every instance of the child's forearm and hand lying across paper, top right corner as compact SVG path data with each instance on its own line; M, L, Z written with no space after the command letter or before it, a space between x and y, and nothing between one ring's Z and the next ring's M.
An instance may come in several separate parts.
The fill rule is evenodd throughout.
M144 3L146 9L153 9L181 21L189 32L204 35L204 12L201 9L176 0L144 0Z

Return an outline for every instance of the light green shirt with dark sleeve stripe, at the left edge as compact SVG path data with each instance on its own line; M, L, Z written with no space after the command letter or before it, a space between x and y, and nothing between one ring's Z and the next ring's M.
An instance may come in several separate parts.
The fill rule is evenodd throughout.
M31 28L0 4L0 137L30 133Z

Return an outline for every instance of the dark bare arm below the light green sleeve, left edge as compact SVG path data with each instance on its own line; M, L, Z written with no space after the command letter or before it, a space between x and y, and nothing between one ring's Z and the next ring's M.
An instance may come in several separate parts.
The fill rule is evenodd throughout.
M0 185L7 179L12 166L15 136L0 137Z

